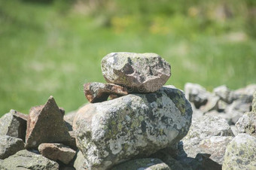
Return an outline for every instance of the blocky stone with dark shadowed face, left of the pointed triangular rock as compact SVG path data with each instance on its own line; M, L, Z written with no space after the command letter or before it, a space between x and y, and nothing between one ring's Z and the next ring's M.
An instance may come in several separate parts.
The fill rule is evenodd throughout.
M9 135L25 141L27 117L26 114L11 109L8 114L0 118L0 135Z

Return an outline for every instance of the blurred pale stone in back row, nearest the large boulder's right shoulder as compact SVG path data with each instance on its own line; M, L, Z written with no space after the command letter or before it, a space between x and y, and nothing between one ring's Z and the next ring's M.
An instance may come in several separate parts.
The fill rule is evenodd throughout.
M207 92L205 88L201 87L197 83L186 83L184 86L184 92L186 98L193 102L196 108L200 108L202 105L206 105L211 93Z

